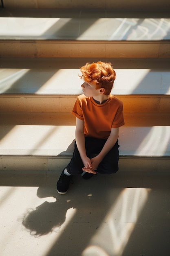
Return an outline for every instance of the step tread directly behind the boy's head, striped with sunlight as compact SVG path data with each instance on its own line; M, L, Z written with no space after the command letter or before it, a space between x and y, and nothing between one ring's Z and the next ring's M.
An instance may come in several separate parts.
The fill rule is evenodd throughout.
M141 58L0 58L0 93L3 97L20 94L82 94L79 67L86 62L110 61L117 73L115 95L170 94L170 59ZM26 94L26 95L24 95ZM15 96L15 95L14 95ZM17 95L16 95L17 96ZM52 97L51 96L51 97ZM24 98L20 98L22 100Z

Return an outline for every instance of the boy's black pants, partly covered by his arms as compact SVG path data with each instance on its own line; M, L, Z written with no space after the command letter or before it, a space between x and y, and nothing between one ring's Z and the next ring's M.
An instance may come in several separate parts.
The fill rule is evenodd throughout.
M86 147L86 155L89 158L94 157L94 155L98 155L102 150L107 139L96 139L91 137L85 137L85 147ZM118 140L115 143L115 146L107 153L102 162L100 162L97 172L102 174L111 174L116 173L119 170L118 161L119 161L119 145ZM84 164L79 155L79 150L77 148L77 144L75 142L74 153L71 159L71 162L67 166L67 171L71 175L81 174L83 172L82 168Z

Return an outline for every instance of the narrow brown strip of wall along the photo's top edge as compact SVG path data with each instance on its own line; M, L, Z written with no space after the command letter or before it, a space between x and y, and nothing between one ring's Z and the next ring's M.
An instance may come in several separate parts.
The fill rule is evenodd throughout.
M170 0L3 0L3 3L4 7L21 8L170 8Z

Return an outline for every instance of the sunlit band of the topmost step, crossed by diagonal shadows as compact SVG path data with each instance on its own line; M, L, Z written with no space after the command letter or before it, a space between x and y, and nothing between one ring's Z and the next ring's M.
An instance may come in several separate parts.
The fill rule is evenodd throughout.
M1 39L165 40L169 18L0 18Z

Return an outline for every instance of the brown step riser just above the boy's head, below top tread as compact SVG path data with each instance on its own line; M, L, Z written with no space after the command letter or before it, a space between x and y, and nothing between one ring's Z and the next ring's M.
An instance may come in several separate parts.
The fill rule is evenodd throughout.
M0 58L170 58L168 40L0 40ZM26 50L25 50L26 49Z

